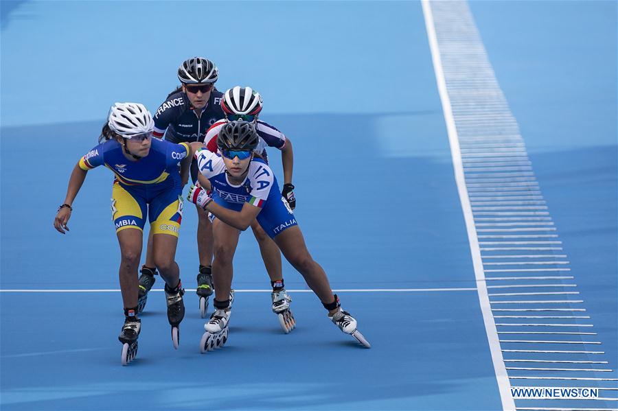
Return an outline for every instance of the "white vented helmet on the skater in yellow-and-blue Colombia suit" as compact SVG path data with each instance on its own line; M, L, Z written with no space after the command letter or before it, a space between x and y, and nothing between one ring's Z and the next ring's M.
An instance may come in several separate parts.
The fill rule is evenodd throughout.
M150 133L155 128L150 111L139 103L114 103L109 109L107 124L125 139Z

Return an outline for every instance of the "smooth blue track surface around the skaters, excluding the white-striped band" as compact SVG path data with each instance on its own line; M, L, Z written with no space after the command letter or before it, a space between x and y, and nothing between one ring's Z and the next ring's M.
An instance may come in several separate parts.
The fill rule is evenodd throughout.
M0 4L2 410L501 409L420 3ZM222 29L239 8L259 30ZM470 8L615 369L616 3ZM216 24L187 40L179 10ZM178 20L152 23L163 15ZM135 48L114 48L114 64L110 44L126 38ZM43 80L17 64L33 53L45 61ZM220 89L255 86L262 118L293 141L295 215L333 288L460 290L339 293L373 345L365 350L284 263L286 287L299 290L297 329L282 333L268 292L238 292L229 342L205 355L195 294L185 296L174 351L155 291L128 367L119 366L119 292L5 292L118 288L111 174L89 173L68 235L52 219L108 106L135 100L155 110L177 64L194 54L218 64ZM176 261L194 287L196 216L187 210ZM268 288L251 233L234 272L238 290Z

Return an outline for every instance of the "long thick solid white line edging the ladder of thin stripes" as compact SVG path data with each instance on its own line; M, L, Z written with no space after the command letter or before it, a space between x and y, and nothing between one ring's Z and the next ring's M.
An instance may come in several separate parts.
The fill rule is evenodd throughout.
M460 4L463 4L467 8L466 4ZM444 112L444 120L446 121L446 130L448 134L448 141L450 143L450 154L451 158L453 159L453 170L455 172L455 182L457 183L457 191L459 192L461 209L464 213L466 231L468 232L468 242L470 243L470 253L472 255L474 277L476 277L477 281L483 280L485 277L485 273L483 272L483 263L481 261L481 250L479 249L479 241L477 239L477 233L474 228L474 216L472 215L472 206L470 206L470 199L468 198L468 191L466 189L464 165L461 158L461 152L459 151L459 136L457 135L457 127L455 126L455 119L453 118L453 111L450 106L450 97L448 97L448 91L446 89L446 79L444 77L444 71L442 70L442 59L440 57L439 46L437 43L437 36L433 22L433 13L428 0L422 0L422 8L425 18L427 36L431 49L431 57L433 60L433 68L435 71L437 87L440 95L440 100L442 102L442 110ZM511 384L503 361L502 351L500 351L499 337L498 333L496 333L496 325L494 324L494 317L492 315L489 296L487 288L485 287L485 281L479 281L477 282L477 284L479 284L479 286L477 287L477 292L479 294L479 303L481 305L481 313L483 314L483 323L485 324L485 332L487 334L490 346L490 353L492 355L492 363L494 365L494 373L496 373L496 380L498 382L502 407L504 410L514 410L515 401L513 400L510 392Z

